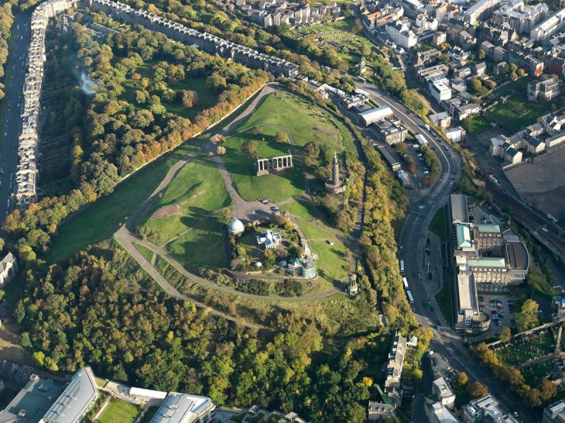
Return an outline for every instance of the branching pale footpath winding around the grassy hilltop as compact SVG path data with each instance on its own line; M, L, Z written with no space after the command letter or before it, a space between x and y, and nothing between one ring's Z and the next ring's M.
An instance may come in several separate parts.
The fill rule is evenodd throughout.
M263 102L263 99L265 99L269 94L272 94L273 92L278 92L278 91L279 90L278 90L278 84L277 83L270 83L270 84L266 85L265 87L263 87L263 90L261 90L261 92L258 94L258 96L253 100L253 102L251 102L251 104L249 104L249 106L245 109L245 111L243 111L242 114L237 119L235 119L231 123L227 124L224 128L222 128L222 130L220 130L218 133L220 135L225 136L225 135L229 134L230 132L232 132L232 130L234 130L239 125L241 125L245 121L245 119L257 109L257 107L261 104L261 102ZM265 126L284 130L285 133L287 134L291 144L295 145L294 139L292 138L292 134L290 134L290 132L288 132L284 128L275 127L274 125L265 125ZM332 295L339 293L340 290L338 290L338 288L333 288L333 289L328 290L324 293L302 295L301 297L283 297L283 296L280 296L280 295L263 296L263 295L242 293L238 290L235 290L234 288L219 285L218 283L214 283L213 281L208 281L205 278L201 278L200 276L198 276L196 274L192 274L191 272L187 271L184 268L184 266L182 266L182 264L177 262L176 259L171 257L165 251L165 247L171 242L171 240L167 241L162 246L157 246L157 245L153 245L152 243L149 243L148 241L142 240L137 235L135 235L136 221L141 216L143 216L143 214L145 214L145 212L149 209L149 207L155 201L159 200L160 197L162 197L162 195L165 193L165 190L167 190L167 187L172 182L172 180L174 180L174 178L177 176L179 171L184 166L186 166L186 164L189 164L192 160L194 160L196 157L198 157L198 154L203 154L203 153L207 153L207 152L215 152L215 147L216 147L215 143L211 140L208 140L200 148L194 149L189 154L186 154L185 157L183 157L182 159L177 161L177 163L174 164L174 166L172 166L172 168L170 168L169 172L167 173L165 178L163 178L163 180L161 181L159 186L155 189L155 191L150 195L150 197L148 197L148 200L145 200L145 202L141 205L141 207L135 213L133 213L133 215L128 219L128 221L123 226L121 226L121 228L119 228L119 230L116 233L114 233L114 239L117 241L117 243L119 243L122 247L124 247L124 249L131 255L131 257L133 257L133 259L135 259L136 262L138 262L138 264L140 264L140 266L151 277L153 277L153 279L155 279L155 281L161 286L161 288L163 288L172 297L177 298L179 300L189 300L191 302L194 302L199 307L203 307L203 308L208 309L211 314L215 314L218 317L222 317L223 319L234 321L235 323L237 323L239 325L246 326L246 327L249 327L249 328L252 328L252 329L266 329L266 327L259 325L259 324L253 324L253 323L249 323L249 322L246 322L246 321L242 321L242 319L238 319L237 317L233 317L229 314L226 314L224 312L219 311L218 309L213 309L209 305L206 305L202 302L198 302L198 301L194 300L194 298L191 298L189 295L185 295L185 294L179 292L179 290L177 290L177 288L172 286L172 284L169 283L169 281L167 281L167 279L164 276L162 276L162 274L160 274L157 271L157 269L155 269L154 263L148 262L148 260L145 259L145 257L143 257L143 255L141 255L141 253L136 249L134 243L138 243L139 245L143 245L143 246L147 247L148 249L150 249L151 251L155 252L155 254L160 255L171 266L173 266L174 269L179 271L179 273L182 274L183 276L185 276L186 278L189 278L191 281L199 283L200 285L205 286L206 288L219 290L223 293L228 293L228 294L232 294L232 295L239 295L242 298L250 298L250 299L253 299L253 300L263 300L263 301L275 300L275 301L284 301L284 302L304 302L304 301L311 301L311 300L323 300L324 298L329 298ZM234 214L236 216L246 217L248 219L251 216L255 216L255 218L256 218L256 216L258 214L262 214L262 213L268 214L270 216L270 214L271 214L270 206L268 206L267 204L263 204L261 202L247 202L246 200L244 200L239 195L239 193L237 192L237 189L235 188L234 183L232 182L232 179L230 178L230 174L228 173L227 169L225 168L225 164L224 164L224 161L222 160L222 158L218 155L215 155L214 159L215 159L215 163L218 166L218 170L220 171L220 175L222 176L222 179L225 182L226 188L227 188L228 192L230 192L230 195L232 196L232 199L234 200ZM251 219L251 220L253 220L253 219ZM177 238L180 238L180 235Z

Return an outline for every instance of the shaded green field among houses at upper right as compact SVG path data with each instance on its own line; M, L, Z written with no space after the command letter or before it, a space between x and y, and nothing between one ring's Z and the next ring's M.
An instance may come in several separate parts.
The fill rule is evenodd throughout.
M496 99L510 95L504 104L496 104L485 112L502 128L516 132L549 112L549 104L528 101L529 80L529 78L520 78L489 94L496 96Z

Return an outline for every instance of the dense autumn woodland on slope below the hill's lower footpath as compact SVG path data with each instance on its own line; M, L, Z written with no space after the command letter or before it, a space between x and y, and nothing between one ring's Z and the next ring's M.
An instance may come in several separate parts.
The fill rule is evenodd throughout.
M308 324L276 334L245 330L156 290L110 243L25 277L15 309L22 343L53 372L90 364L118 381L203 394L218 405L295 410L312 422L364 422L374 382L367 375L382 377L386 333L334 345ZM415 362L430 336L416 334Z

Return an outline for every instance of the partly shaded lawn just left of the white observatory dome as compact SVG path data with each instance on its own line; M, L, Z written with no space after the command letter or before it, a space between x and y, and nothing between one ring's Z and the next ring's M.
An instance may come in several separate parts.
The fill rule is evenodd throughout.
M211 217L201 226L167 245L167 252L188 271L198 274L198 268L225 267L225 248L220 230L224 223Z

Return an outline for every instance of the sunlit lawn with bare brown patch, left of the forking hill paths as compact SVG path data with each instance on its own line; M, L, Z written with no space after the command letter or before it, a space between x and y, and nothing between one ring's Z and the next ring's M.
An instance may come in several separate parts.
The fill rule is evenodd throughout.
M148 231L148 239L162 245L216 210L231 205L232 197L213 158L202 154L177 173L162 198L139 221L141 228Z

